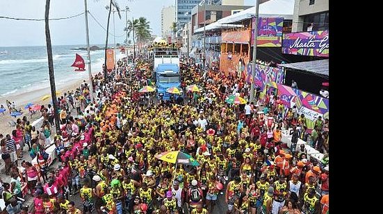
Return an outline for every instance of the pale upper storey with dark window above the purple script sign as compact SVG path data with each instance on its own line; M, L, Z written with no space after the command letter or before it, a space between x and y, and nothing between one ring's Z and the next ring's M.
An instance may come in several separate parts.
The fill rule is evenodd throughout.
M329 29L329 0L295 0L292 32Z

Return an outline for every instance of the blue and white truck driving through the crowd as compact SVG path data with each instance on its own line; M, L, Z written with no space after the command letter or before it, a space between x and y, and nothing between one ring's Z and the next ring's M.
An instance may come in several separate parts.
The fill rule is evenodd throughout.
M166 92L171 87L181 86L179 72L179 53L177 48L154 48L154 72L157 85L157 98L169 100L170 94ZM174 95L174 98L181 95Z

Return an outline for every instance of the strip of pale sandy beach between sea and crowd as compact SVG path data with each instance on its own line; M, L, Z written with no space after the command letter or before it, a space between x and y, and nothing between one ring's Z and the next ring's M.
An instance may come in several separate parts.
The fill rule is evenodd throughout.
M62 96L64 92L75 90L80 86L81 82L83 82L83 80L73 80L73 82L68 82L67 84L56 85L56 91L60 92L58 96ZM10 102L15 102L17 109L21 108L24 112L22 116L17 116L16 118L9 115L8 109L7 112L4 112L4 114L0 114L0 133L3 135L10 134L12 130L15 129L15 127L11 127L8 122L16 121L17 118L22 118L24 115L28 116L28 119L31 121L31 123L40 118L40 113L33 115L31 118L29 116L28 109L24 109L24 106L28 102L32 102L38 105L48 105L49 102L51 102L51 98L48 98L47 100L41 100L41 98L50 94L51 88L49 86L49 82L47 82L47 86L42 89L24 93L15 93L10 96L0 98L0 104L4 107L6 107L6 100L10 100Z

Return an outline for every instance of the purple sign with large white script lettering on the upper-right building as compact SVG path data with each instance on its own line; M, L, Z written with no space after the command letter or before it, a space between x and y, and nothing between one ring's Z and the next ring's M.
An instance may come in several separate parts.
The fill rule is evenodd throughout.
M284 34L282 53L329 57L329 31Z

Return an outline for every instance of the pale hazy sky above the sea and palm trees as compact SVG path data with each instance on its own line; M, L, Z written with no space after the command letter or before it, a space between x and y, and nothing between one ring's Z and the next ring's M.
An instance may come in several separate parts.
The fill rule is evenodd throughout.
M124 10L129 6L128 19L146 17L152 33L161 35L161 8L174 5L174 0L116 0ZM88 10L106 28L108 0L88 0ZM254 5L255 0L245 0L245 5ZM44 0L0 0L0 16L27 19L44 19ZM84 11L82 0L51 0L49 18L70 17ZM125 12L122 19L115 13L115 42L125 39ZM105 43L106 33L96 21L88 16L90 44ZM86 44L84 15L72 19L49 21L52 45ZM0 46L45 46L44 21L17 21L0 19ZM110 32L113 33L113 13ZM113 36L109 36L113 44Z

